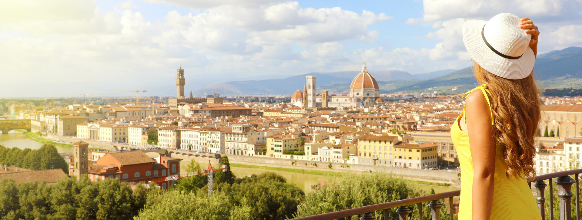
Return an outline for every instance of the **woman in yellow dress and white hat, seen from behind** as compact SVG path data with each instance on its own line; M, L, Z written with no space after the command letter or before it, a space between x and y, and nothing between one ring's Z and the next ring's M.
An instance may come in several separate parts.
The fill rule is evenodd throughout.
M465 107L451 129L462 174L459 219L541 220L526 180L535 176L540 121L533 76L538 35L530 19L510 13L463 24L482 85L463 95Z

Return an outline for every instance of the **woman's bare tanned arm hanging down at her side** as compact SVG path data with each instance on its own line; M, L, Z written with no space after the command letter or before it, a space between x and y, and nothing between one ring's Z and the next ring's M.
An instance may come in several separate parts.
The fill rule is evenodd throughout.
M476 90L467 96L466 118L473 158L473 220L489 220L495 177L495 137L485 96Z

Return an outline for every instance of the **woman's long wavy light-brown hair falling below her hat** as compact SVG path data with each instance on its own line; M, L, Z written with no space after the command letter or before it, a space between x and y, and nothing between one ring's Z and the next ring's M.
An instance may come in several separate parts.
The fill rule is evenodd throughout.
M508 164L505 174L510 178L535 178L535 137L541 108L534 73L524 79L505 79L488 72L476 62L473 73L477 81L487 84L489 90L495 140Z

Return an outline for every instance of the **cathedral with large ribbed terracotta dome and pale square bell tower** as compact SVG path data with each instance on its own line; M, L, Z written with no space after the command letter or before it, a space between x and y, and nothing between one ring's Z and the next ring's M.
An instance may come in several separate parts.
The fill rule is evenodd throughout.
M303 91L297 90L291 97L291 103L297 107L371 107L384 104L380 98L378 82L368 73L365 62L361 72L352 80L349 94L329 94L326 90L318 94L316 77L309 75L306 79Z

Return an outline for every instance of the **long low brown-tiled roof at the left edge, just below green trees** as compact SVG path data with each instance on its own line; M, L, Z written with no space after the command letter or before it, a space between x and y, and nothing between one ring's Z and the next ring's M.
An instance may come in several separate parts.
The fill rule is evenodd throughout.
M0 173L0 179L13 179L16 184L22 182L56 183L60 179L68 178L62 169L42 169L40 171L25 171Z

